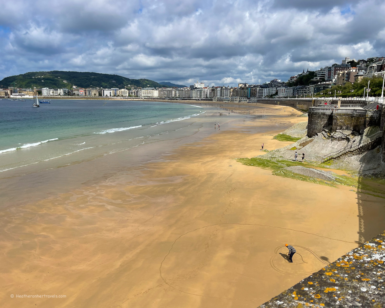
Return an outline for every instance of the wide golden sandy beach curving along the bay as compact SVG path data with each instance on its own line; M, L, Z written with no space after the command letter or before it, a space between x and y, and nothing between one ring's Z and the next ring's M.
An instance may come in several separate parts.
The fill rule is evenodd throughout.
M161 159L1 209L2 306L251 308L357 247L351 187L235 161L263 155L262 143L292 143L272 138L307 120L290 107L256 106L239 105L246 119L212 125ZM383 231L385 209L375 196L363 202L370 239ZM285 243L297 247L293 264Z

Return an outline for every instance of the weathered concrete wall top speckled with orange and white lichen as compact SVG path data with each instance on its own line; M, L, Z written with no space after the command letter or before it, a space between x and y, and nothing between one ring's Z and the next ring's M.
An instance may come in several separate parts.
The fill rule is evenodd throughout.
M385 231L259 308L385 307Z

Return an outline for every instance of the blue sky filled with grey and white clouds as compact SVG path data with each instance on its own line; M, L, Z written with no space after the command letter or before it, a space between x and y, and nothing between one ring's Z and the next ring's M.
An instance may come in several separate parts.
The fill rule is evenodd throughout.
M1 0L0 80L75 70L261 83L385 55L383 0Z

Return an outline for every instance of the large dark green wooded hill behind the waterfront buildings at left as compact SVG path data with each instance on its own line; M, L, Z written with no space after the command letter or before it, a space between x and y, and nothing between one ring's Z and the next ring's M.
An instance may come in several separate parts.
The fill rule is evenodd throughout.
M67 81L67 82L64 82ZM5 77L0 81L0 88L119 88L137 87L167 87L149 79L129 79L119 75L100 74L93 72L64 72L52 70L50 72L28 72L21 75Z

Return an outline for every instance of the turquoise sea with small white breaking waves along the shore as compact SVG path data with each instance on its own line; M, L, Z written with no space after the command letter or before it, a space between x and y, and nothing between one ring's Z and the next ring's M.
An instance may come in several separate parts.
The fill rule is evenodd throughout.
M0 177L68 166L159 140L205 110L196 105L119 100L0 100Z

